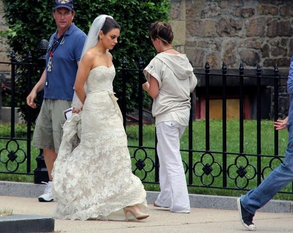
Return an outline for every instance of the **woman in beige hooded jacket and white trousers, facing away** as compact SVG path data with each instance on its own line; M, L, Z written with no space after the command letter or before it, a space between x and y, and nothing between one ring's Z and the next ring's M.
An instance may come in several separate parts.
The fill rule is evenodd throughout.
M158 52L144 70L147 82L143 84L153 98L152 115L158 139L161 192L154 206L170 207L171 212L189 213L180 138L188 125L190 93L197 79L186 55L173 49L173 32L169 23L152 23L149 35Z

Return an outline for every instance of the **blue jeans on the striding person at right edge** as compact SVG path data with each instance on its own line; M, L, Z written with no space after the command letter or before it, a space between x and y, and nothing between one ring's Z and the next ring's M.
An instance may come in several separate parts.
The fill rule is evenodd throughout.
M287 126L288 146L284 162L274 169L269 176L254 190L241 196L242 206L251 214L264 206L275 194L293 181L293 125Z

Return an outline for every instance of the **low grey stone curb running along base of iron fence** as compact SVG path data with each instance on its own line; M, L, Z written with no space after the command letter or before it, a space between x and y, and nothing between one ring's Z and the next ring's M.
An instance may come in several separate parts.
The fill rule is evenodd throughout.
M44 185L23 182L0 181L0 195L38 197L44 191ZM153 203L159 192L147 191L147 203ZM237 210L238 197L203 194L189 194L190 207ZM293 201L270 200L258 211L269 213L293 213Z

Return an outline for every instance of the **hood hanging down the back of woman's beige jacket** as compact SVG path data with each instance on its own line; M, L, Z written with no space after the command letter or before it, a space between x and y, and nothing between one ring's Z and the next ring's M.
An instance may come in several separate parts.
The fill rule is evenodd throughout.
M193 73L193 68L185 54L171 54L162 52L157 54L155 58L165 63L178 79L187 79Z

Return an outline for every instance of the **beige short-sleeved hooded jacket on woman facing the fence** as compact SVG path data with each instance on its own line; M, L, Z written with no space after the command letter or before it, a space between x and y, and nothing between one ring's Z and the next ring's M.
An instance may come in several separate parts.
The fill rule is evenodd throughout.
M159 94L152 104L155 123L175 120L188 125L190 93L197 79L186 55L161 52L147 65L144 75L148 82L151 75L159 83Z

